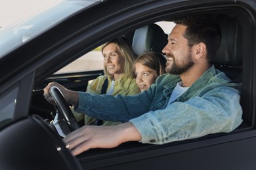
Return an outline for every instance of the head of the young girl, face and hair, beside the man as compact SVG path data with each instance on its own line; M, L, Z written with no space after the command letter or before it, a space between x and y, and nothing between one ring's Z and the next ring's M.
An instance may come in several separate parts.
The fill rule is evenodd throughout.
M140 90L148 90L158 76L165 73L166 58L158 52L146 52L135 60L136 83Z

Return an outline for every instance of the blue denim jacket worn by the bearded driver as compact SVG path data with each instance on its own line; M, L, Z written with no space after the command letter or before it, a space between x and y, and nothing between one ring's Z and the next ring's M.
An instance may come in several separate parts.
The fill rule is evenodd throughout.
M165 74L148 90L131 96L79 92L77 111L103 120L131 122L141 143L163 144L230 132L242 123L241 84L212 65L188 90L167 105L181 78Z

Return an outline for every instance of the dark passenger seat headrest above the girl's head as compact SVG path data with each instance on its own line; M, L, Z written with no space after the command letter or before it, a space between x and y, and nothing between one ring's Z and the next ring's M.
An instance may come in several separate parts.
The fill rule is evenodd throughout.
M167 43L163 29L157 24L146 25L135 30L133 50L138 56L144 52L160 52Z

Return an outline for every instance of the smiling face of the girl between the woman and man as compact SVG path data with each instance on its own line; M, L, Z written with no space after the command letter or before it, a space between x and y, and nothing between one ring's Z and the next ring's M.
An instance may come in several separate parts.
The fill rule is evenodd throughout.
M135 75L136 83L141 91L148 90L151 84L154 84L156 78L158 78L158 74L154 69L142 65L140 62L135 63Z

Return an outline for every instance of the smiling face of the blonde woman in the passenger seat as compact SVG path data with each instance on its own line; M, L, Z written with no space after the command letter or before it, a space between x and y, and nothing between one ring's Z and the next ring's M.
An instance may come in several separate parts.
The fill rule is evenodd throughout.
M117 48L117 45L110 43L102 50L104 57L104 65L110 75L114 75L114 79L118 79L123 75L125 68L125 58Z

